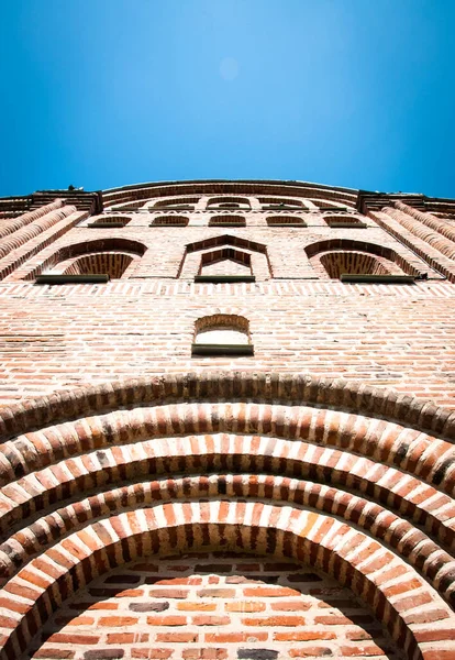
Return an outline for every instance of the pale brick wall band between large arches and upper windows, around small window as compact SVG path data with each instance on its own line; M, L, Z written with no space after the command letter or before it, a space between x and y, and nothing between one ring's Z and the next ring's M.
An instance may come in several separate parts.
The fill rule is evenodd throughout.
M4 403L122 377L213 369L345 377L455 407L447 284L0 284ZM254 358L191 358L195 322L249 320Z

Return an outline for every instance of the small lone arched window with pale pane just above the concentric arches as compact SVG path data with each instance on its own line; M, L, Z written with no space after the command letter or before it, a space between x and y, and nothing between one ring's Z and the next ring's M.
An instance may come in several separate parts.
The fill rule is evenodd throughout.
M196 321L192 355L253 355L247 319L213 315Z

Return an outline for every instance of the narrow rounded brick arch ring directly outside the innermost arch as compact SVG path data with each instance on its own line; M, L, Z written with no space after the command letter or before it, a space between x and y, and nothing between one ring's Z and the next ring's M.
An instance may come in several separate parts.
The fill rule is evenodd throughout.
M248 449L248 447L245 448L245 454L242 457L245 462L247 462L249 455L247 453ZM384 542L393 551L398 551L417 571L422 573L448 603L453 603L452 576L454 566L452 557L444 552L437 542L434 542L422 530L415 528L412 522L393 514L381 504L343 490L336 483L329 486L303 479L277 476L269 473L249 474L246 472L242 474L223 473L221 475L211 473L209 476L195 475L195 469L191 469L191 459L188 455L186 462L185 455L176 458L180 465L185 466L186 476L169 479L159 475L149 482L132 481L129 485L118 485L113 488L111 483L103 485L102 480L100 480L100 485L95 494L85 497L86 493L79 493L76 508L75 502L70 502L66 506L59 506L54 512L42 515L40 518L32 517L32 521L25 516L22 525L26 522L29 525L21 529L18 527L18 521L12 520L11 535L8 541L0 546L0 583L4 585L31 559L100 516L109 515L114 510L135 509L145 504L156 505L162 501L198 499L202 496L215 496L224 493L230 498L246 497L254 499L260 497L260 501L271 501L273 503L290 502L296 507L304 506L333 514L339 519L348 522L360 531L365 531L379 542ZM206 455L204 458L206 461L202 461L202 463L206 463L203 466L207 466L210 457ZM230 459L232 463L236 462L233 457L226 454L225 463L229 463ZM226 465L221 466L225 468ZM134 465L131 465L131 468L134 469L134 472L137 472L136 479L137 476L144 479L147 476L146 474L141 475L140 470L136 470ZM312 465L312 468L314 471L315 466ZM341 486L346 487L346 484L341 484ZM93 490L90 488L89 493L93 493ZM388 496L391 494L390 491L387 492ZM52 496L51 493L48 493L48 496ZM74 501L74 498L73 496L71 499ZM109 506L106 506L107 501L110 503ZM38 508L36 512L40 513ZM437 517L432 518L424 508L420 513L423 516L426 514L429 521L434 527L443 527L441 520ZM66 520L64 528L59 524L62 519ZM29 534L26 540L23 537L24 529ZM446 529L442 529L443 534L446 531ZM421 551L414 552L414 547L418 544L422 546Z

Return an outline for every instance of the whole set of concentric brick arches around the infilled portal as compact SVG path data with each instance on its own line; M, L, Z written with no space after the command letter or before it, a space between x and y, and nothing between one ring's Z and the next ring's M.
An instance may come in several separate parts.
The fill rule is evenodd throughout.
M206 373L62 393L1 417L0 658L19 657L100 566L189 538L223 548L225 534L352 581L413 660L434 660L455 634L450 411L342 381Z

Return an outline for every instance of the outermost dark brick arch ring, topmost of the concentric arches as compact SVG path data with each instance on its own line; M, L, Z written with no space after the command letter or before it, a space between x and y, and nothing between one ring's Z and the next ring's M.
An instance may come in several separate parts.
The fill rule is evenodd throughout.
M247 309L226 308L213 312L245 316ZM455 411L426 399L399 394L392 388L302 373L251 374L235 371L124 378L31 397L0 408L0 439L75 419L82 414L107 413L125 406L179 400L234 400L238 397L248 402L308 404L370 415L455 440Z

